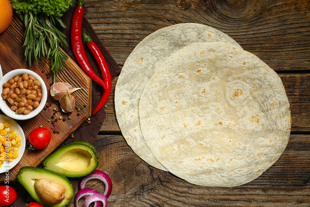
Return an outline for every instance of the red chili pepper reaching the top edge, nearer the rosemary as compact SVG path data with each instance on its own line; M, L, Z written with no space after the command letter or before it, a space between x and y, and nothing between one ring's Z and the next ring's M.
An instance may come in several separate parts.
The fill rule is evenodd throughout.
M75 8L71 23L71 43L74 56L76 57L78 63L81 65L84 72L93 81L99 83L104 89L106 89L107 85L104 83L102 79L98 77L98 75L95 74L85 54L81 37L83 15L84 15L84 2L83 0L78 0L77 7Z

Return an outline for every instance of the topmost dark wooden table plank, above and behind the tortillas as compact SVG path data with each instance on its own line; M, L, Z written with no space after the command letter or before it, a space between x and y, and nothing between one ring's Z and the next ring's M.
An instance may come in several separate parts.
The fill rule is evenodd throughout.
M119 65L157 29L201 23L228 34L272 69L310 68L308 0L85 0L85 17Z

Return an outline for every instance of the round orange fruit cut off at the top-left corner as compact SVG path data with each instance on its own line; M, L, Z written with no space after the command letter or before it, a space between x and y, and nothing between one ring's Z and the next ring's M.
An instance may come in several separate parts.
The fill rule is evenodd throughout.
M0 0L0 33L11 24L13 9L9 0Z

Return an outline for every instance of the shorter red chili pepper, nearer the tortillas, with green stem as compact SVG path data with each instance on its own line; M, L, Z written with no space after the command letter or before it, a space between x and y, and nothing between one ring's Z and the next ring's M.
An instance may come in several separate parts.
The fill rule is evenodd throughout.
M104 104L107 102L111 94L112 80L111 80L111 74L110 74L107 62L105 61L102 52L100 51L98 46L94 43L94 41L91 39L91 37L85 34L85 29L83 30L82 37L86 43L86 46L91 50L91 53L93 53L100 67L104 82L107 84L107 89L104 90L103 95L100 99L100 102L93 112L93 115L95 115L95 113L97 113L104 106Z

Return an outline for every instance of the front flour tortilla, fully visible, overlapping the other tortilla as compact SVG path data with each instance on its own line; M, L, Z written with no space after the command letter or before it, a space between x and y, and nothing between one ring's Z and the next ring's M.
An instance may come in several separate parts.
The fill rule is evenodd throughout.
M201 186L254 180L290 137L290 105L277 73L227 43L195 43L166 59L144 88L139 117L155 158Z

